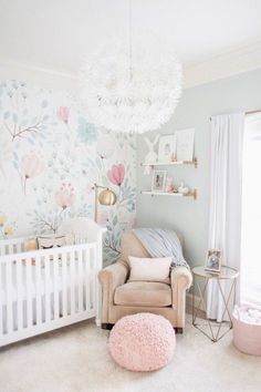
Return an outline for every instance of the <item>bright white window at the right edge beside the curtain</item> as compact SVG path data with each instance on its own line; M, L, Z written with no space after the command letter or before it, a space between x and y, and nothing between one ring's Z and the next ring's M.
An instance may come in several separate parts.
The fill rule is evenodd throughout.
M241 300L261 305L261 114L246 120L241 234Z

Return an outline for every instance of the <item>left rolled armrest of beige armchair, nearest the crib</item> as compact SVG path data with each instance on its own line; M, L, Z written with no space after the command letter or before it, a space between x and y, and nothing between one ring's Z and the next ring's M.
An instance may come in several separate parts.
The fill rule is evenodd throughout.
M125 283L128 275L128 268L116 262L102 269L98 272L98 280L102 285L102 322L108 322L109 308L113 306L114 291L118 286Z

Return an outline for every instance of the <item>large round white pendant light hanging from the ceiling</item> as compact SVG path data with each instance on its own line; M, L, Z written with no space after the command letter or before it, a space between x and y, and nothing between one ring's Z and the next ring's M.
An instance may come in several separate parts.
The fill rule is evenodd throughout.
M129 23L130 24L130 23ZM82 100L91 121L123 133L155 131L165 124L181 94L181 64L154 35L114 39L81 70Z

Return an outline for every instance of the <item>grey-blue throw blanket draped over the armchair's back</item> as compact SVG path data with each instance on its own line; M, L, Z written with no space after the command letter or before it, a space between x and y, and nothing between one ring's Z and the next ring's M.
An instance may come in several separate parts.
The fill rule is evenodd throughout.
M175 231L154 228L136 228L133 231L152 257L173 257L171 267L189 268Z

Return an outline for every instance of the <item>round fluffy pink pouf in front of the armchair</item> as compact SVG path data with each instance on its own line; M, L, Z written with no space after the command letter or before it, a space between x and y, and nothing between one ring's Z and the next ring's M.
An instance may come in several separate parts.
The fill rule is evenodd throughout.
M147 372L165 367L173 358L176 337L161 316L138 313L123 317L114 326L108 348L123 368Z

